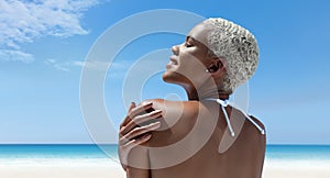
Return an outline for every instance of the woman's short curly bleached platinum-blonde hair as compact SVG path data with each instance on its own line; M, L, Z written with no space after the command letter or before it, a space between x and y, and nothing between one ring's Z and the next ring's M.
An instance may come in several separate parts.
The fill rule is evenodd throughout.
M207 45L211 56L222 57L227 62L223 90L233 92L248 81L258 63L257 42L246 29L221 18L210 18L204 24L211 27L207 35Z

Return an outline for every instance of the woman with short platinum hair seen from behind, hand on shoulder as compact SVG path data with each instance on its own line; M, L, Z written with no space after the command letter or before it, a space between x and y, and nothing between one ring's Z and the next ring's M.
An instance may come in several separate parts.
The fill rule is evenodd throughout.
M189 100L131 104L119 141L127 177L261 177L264 126L227 102L256 69L254 36L227 20L208 19L172 52L163 80L182 86Z

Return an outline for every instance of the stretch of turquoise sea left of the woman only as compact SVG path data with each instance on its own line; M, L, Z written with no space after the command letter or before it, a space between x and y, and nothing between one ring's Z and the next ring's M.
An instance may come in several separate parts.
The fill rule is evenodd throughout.
M117 145L0 145L1 165L120 165ZM106 151L106 152L102 152Z

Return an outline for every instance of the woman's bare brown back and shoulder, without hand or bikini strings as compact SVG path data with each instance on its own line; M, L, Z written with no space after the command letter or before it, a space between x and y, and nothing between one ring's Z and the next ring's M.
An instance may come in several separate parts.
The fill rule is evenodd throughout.
M232 143L226 143L231 135L226 132L227 123L216 102L157 99L153 100L153 108L165 114L162 131L154 132L146 144L152 178L261 177L265 135L245 122L240 111L227 107L228 113L237 113L230 120L242 121L242 129L235 130ZM235 122L232 123L235 129ZM220 143L230 144L224 153L219 153Z

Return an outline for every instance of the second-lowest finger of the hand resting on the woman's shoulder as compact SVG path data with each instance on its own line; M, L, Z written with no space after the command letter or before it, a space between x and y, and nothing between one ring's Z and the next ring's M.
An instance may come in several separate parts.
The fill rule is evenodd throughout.
M141 136L141 135L143 135L147 132L155 131L160 126L161 126L161 122L154 122L154 123L151 123L148 125L144 125L144 126L141 126L141 127L135 127L132 131L130 131L129 133L127 133L125 135L121 136L119 138L119 144L124 145L124 144L129 143L132 138Z

